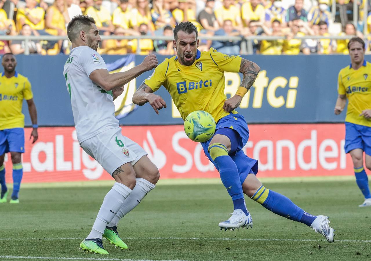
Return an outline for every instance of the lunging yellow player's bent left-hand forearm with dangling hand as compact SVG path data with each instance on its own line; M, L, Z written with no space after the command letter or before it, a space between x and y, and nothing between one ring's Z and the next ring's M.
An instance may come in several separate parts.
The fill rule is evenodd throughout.
M158 110L166 108L164 99L162 99L161 96L154 94L153 90L145 83L142 83L137 91L134 92L132 101L134 104L138 104L139 106L148 102L157 114L159 114Z

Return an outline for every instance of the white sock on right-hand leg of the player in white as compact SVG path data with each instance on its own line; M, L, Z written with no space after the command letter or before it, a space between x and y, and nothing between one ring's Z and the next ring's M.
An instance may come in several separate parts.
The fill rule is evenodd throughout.
M130 193L128 198L125 199L124 203L121 205L121 208L114 216L111 223L109 223L107 226L117 226L119 220L129 213L133 208L138 206L142 199L154 188L154 184L148 180L138 177L137 185L135 185L133 191Z

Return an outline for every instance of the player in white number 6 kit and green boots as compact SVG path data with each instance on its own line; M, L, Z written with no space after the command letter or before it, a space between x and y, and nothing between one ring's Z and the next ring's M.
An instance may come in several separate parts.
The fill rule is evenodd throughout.
M118 235L117 223L154 189L160 177L157 167L142 147L121 134L114 116L113 100L124 91L122 86L155 68L158 62L155 55L148 55L129 71L109 74L96 51L101 37L92 17L73 17L67 35L72 50L63 75L79 144L116 181L105 196L92 231L81 242L80 248L84 252L108 254L103 248L102 236L116 247L128 248ZM88 197L81 200L82 203L89 202Z

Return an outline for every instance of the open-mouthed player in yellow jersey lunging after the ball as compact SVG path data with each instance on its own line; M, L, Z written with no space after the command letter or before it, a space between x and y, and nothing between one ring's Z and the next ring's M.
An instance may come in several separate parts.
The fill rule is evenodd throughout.
M257 161L247 157L242 148L249 138L244 117L236 109L260 71L259 66L240 56L229 56L197 50L197 28L190 22L179 23L174 29L174 48L177 56L165 59L152 76L146 79L133 95L133 102L149 102L156 113L165 108L165 101L153 92L161 85L167 89L183 120L192 111L209 112L217 122L214 136L201 143L208 159L220 173L221 181L233 200L232 216L219 223L220 229L252 226L243 193L273 213L311 226L334 241L334 229L328 217L304 212L285 196L266 189L256 178ZM241 72L243 79L236 95L227 99L224 94L224 72Z

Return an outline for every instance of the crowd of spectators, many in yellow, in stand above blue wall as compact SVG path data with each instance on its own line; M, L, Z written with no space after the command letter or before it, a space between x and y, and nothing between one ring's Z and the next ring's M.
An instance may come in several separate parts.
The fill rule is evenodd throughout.
M358 21L353 21L353 1L358 4ZM331 0L0 0L0 54L21 54L24 40L1 40L1 35L66 35L73 16L92 16L101 35L172 36L177 23L190 21L199 35L207 36L284 36L279 40L252 40L253 52L266 55L303 53L348 53L349 40L295 39L295 36L363 35L365 0L336 0L336 16ZM370 1L370 0L367 0ZM371 4L368 3L371 10ZM371 39L371 38L370 38ZM103 40L102 54L156 52L174 55L172 41L151 39ZM367 50L370 50L367 41ZM201 40L200 50L216 48L229 55L241 53L238 40ZM68 40L29 41L30 53L57 55L69 53Z

